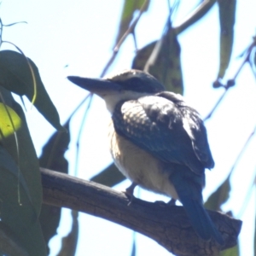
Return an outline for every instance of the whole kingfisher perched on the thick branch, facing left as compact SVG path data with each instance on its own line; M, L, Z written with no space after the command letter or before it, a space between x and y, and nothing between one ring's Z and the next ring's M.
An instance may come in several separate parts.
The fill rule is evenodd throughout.
M111 113L108 130L115 165L139 185L183 204L195 233L204 241L224 240L203 207L205 169L214 161L200 114L183 96L166 91L149 73L125 70L105 79L67 77L102 97Z

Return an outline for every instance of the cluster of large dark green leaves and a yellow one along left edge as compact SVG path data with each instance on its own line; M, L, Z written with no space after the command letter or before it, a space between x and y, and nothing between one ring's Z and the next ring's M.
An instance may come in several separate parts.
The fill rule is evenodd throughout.
M26 96L59 131L59 114L40 78L38 67L25 55L0 51L0 218L9 241L28 255L45 255L46 246L39 222L42 184L38 156L20 104L12 93ZM45 211L45 210L44 210ZM1 251L14 255L15 247L3 244ZM21 249L20 249L21 250ZM25 253L25 255L26 255Z

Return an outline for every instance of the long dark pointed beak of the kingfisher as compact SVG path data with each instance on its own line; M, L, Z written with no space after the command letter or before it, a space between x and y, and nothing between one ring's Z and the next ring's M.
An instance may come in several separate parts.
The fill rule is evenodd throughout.
M104 94L108 91L117 91L121 89L119 84L113 83L107 79L87 79L75 76L69 76L67 79L73 82L73 84L77 84L81 88L96 93L99 96L102 96L102 93Z

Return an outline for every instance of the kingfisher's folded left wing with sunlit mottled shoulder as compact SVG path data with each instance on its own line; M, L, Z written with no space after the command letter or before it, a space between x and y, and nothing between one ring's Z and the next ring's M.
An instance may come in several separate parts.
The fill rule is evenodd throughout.
M160 160L189 166L198 174L207 167L195 153L194 142L184 128L189 117L176 102L163 96L144 96L137 101L119 102L112 118L120 135Z

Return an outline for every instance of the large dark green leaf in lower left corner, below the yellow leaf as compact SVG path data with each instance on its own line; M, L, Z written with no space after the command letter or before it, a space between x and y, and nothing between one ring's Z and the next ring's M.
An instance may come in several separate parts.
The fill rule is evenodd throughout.
M14 174L15 173L15 174ZM27 185L11 155L0 145L0 218L30 255L45 256L46 247ZM20 182L22 180L23 182Z

